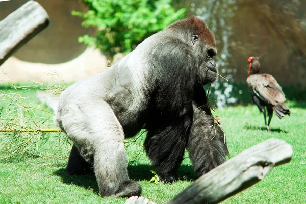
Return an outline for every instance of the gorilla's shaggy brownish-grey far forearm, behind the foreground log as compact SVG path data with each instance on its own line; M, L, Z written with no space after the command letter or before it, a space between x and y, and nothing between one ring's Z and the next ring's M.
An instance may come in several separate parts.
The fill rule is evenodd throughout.
M193 167L202 175L226 161L228 155L224 133L213 116L194 107L193 124L187 148Z

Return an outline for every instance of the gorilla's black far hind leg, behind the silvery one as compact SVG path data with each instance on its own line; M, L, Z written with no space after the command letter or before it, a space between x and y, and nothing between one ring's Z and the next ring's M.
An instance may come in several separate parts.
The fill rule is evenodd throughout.
M72 146L66 171L70 175L93 174L93 167L79 154L77 147Z

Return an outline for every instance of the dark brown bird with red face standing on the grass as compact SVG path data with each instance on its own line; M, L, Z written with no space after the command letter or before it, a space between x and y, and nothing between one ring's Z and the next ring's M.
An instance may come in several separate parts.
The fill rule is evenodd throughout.
M264 114L265 129L270 131L269 125L273 116L281 119L285 115L290 116L289 108L284 104L286 98L282 87L277 83L275 78L266 73L259 73L260 61L259 57L249 57L249 70L246 79L248 90L251 93L252 101L257 105L259 110ZM268 123L266 120L266 112L268 113Z

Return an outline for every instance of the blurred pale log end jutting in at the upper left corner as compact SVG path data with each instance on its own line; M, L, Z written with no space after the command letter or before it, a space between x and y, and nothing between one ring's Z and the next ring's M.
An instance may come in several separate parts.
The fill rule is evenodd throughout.
M47 12L35 1L28 1L0 21L0 65L48 24Z

